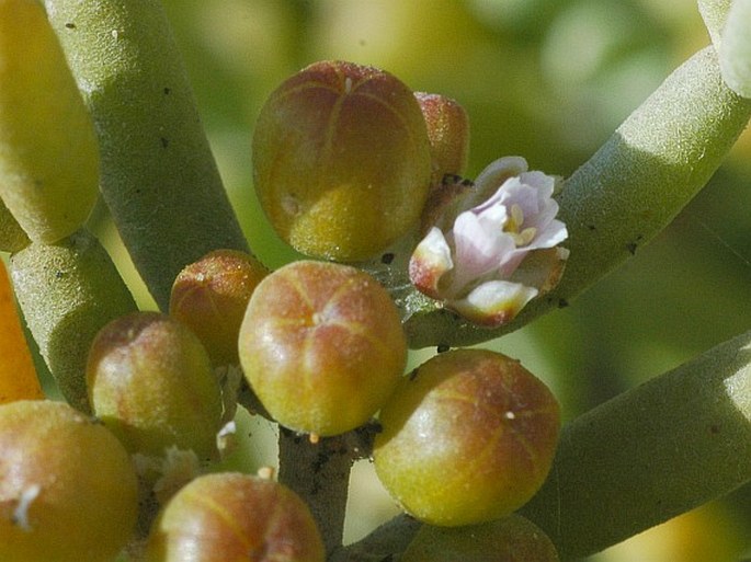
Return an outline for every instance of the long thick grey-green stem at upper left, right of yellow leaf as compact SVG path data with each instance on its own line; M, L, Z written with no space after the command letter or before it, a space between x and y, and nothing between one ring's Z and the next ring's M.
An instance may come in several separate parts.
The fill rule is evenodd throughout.
M92 113L101 190L167 311L178 273L210 250L248 251L158 0L46 0Z

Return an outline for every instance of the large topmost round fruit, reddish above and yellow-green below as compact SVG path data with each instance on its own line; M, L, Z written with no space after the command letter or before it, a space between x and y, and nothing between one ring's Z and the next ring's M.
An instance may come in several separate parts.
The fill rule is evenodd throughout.
M278 234L337 261L372 257L403 236L431 175L425 123L397 78L351 62L316 62L261 110L255 190Z

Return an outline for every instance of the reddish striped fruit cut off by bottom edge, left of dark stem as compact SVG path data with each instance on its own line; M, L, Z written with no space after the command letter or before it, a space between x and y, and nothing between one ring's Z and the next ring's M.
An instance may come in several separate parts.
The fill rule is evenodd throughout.
M303 501L273 482L207 474L178 492L157 519L147 562L323 562L323 542Z

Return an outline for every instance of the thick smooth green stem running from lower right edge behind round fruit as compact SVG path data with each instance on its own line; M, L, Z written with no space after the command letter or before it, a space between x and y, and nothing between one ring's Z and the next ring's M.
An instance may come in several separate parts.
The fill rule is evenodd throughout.
M751 332L569 424L522 513L570 560L749 481Z

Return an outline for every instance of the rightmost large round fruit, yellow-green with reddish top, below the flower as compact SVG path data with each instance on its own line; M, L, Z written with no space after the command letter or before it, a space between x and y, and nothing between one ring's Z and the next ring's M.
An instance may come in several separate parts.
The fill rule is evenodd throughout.
M547 477L560 429L547 387L485 349L440 354L384 405L375 469L402 507L433 525L473 525L525 504Z

